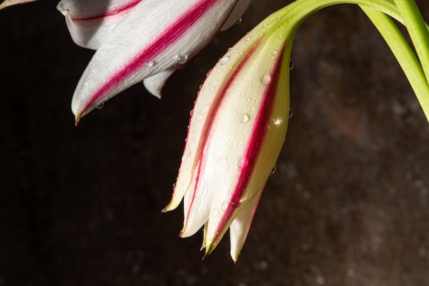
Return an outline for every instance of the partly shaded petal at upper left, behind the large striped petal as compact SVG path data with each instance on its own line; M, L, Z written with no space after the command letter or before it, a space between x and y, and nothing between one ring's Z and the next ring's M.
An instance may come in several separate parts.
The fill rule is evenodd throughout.
M142 0L62 0L57 5L64 14L73 41L80 47L98 49L114 27Z

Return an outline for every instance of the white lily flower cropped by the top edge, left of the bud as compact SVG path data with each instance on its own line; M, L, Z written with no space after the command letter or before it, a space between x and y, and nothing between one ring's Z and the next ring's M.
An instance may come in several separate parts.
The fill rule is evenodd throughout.
M168 77L247 5L249 0L61 1L58 10L73 39L97 49L73 95L76 122L140 81L160 96Z

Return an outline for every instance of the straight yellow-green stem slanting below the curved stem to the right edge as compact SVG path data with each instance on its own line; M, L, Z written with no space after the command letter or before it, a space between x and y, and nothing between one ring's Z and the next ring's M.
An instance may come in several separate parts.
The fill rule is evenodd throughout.
M413 50L389 16L365 5L360 5L360 8L367 14L378 31L380 31L384 40L386 40L397 62L399 62L402 70L404 70L411 88L413 88L421 108L429 121L429 85L424 70Z

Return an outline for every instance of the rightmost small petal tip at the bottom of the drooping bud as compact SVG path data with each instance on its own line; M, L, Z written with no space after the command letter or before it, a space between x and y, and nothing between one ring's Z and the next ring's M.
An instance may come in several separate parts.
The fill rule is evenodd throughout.
M234 262L238 260L241 249L249 233L250 225L254 218L258 203L262 196L262 190L260 190L258 196L255 196L252 201L247 205L241 213L231 222L230 225L230 244L231 244L231 258Z

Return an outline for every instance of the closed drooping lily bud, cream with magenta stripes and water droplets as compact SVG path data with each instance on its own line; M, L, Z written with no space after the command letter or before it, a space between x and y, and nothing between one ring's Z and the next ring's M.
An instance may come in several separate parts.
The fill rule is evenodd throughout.
M277 21L269 19L269 23ZM206 255L230 228L238 259L289 121L291 43L260 24L219 60L201 87L173 198L184 198L181 237L204 225Z

